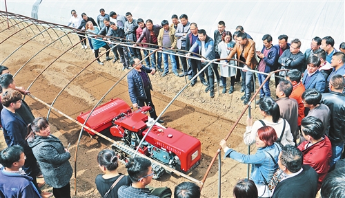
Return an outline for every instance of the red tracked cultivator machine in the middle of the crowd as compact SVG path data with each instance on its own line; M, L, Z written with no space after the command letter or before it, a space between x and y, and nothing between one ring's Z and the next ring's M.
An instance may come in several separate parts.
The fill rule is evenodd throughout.
M90 111L81 113L77 120L84 123L90 115L86 126L98 132L110 128L110 133L122 140L121 143L112 144L112 149L119 159L128 162L128 157L135 153L139 142L154 122L146 115L150 110L151 107L145 106L132 111L124 100L117 98L97 107L91 115ZM91 131L88 133L95 135ZM201 159L201 143L197 138L161 124L152 126L138 151L184 173L195 168ZM164 169L157 164L152 164L152 169L155 170L155 177L164 173Z

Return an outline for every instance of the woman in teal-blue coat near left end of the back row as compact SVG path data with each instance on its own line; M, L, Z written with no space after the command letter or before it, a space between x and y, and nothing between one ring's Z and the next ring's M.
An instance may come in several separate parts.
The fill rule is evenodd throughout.
M99 36L95 35L99 33L99 28L97 26L94 26L92 21L88 21L86 23L86 32L91 32L93 34L88 34L89 37L94 37L91 39L92 47L93 50L95 50L95 57L97 58L97 62L99 65L103 65L101 61L99 61L99 48L104 47L106 48L106 61L110 61L111 58L109 58L109 53L110 53L110 47L109 45L105 42L102 41L101 39L98 39Z

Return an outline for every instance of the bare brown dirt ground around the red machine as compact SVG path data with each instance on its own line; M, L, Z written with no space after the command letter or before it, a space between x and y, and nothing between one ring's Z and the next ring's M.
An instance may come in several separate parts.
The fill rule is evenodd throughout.
M22 30L14 36L11 36L10 39L4 41L11 34L19 30L19 28L5 30L5 25L6 23L1 23L0 25L0 31L4 30L0 34L0 42L3 42L0 45L1 62L14 52L17 47L20 47L17 52L14 52L12 56L1 64L9 67L12 74L15 74L19 68L21 68L29 58L39 52L39 50L42 50L43 47L46 47L53 40L57 39L57 34L63 34L59 31L55 33L52 30L48 30L47 32L49 32L50 35L45 32L26 43L28 39L34 36L32 31L38 32L37 28L32 28L32 30L27 28L27 30ZM39 27L39 30L43 30L43 28ZM76 35L70 35L70 39L73 44L79 41ZM30 87L31 94L51 104L70 79L81 72L81 69L86 67L94 58L94 54L92 54L90 48L84 51L81 50L81 45L78 44L71 50L68 50L71 47L72 45L66 36L63 37L61 41L57 41L49 47L46 47L46 49L37 56L34 56L34 58L18 72L17 76L15 76L14 79L17 86L27 88L32 84ZM63 52L66 52L66 54L63 54ZM104 50L102 52L104 52ZM63 55L61 56L61 54ZM58 58L59 56L61 57ZM111 56L113 56L113 54L111 54ZM57 61L55 61L56 59ZM101 58L101 60L104 59L103 57ZM55 61L55 63L52 63L53 61ZM43 72L43 69L51 63L52 65ZM62 91L54 107L71 118L77 118L79 113L92 109L106 91L108 91L108 89L110 89L110 87L121 77L126 76L128 72L127 69L121 71L122 66L118 63L114 64L112 61L104 63L103 66L92 63L89 67L86 67L86 69L83 70L64 91ZM39 76L41 72L43 73ZM36 78L37 80L34 81ZM168 102L172 100L175 94L186 85L184 78L176 77L172 73L165 77L156 74L155 76L150 76L150 79L153 89L155 90L152 91L152 100L157 109L157 113L160 113ZM274 82L271 81L270 83L272 85ZM230 85L230 82L228 82L228 85ZM238 84L235 85L235 92L233 94L220 94L220 96L218 96L216 92L215 98L210 98L209 93L205 93L204 89L205 86L198 80L198 83L194 87L188 87L161 117L165 120L164 126L170 126L184 133L193 135L201 141L201 164L189 174L191 177L198 180L203 179L211 159L213 159L219 148L219 141L226 137L233 123L244 109L244 105L239 99L243 94L239 92L240 86ZM220 88L220 92L221 89L222 88ZM217 91L217 89L215 89L215 91ZM274 90L273 97L275 97ZM107 102L110 98L121 98L128 102L128 104L131 104L128 96L126 78L121 80L119 85L110 91L103 102ZM33 100L28 96L26 96L25 100L30 105L36 117L47 116L48 108L41 102ZM253 109L252 113L254 120L262 118L262 116L259 115L258 108ZM243 142L246 115L247 114L240 120L235 131L233 131L228 139L230 147L242 153L248 153L248 146ZM52 134L59 137L63 145L67 146L68 143L71 144L70 153L72 157L70 158L70 164L72 164L73 168L75 168L75 164L77 165L76 196L75 176L73 175L70 180L73 197L100 197L95 186L95 177L97 174L101 173L96 162L96 156L102 149L110 148L111 143L108 142L108 140L104 140L102 137L97 135L91 137L88 133L84 132L81 135L81 142L76 157L75 148L81 127L55 111L50 113L49 122L51 126L53 126L51 129ZM111 135L108 136L110 137ZM6 143L3 137L0 138L0 144L3 148L6 146ZM186 144L188 143L186 142ZM250 150L251 152L255 152L255 146L252 146ZM77 158L77 162L75 162L75 158ZM121 165L119 172L126 173L126 168ZM222 157L221 197L233 197L233 186L238 179L246 177L246 174L246 164L240 164L233 159L223 159ZM160 179L153 180L151 185L168 186L174 190L175 186L183 181L187 181L187 179L184 177L177 177L176 175L165 174ZM43 190L51 192L52 188L46 185ZM202 197L217 197L217 190L218 161L216 160L206 179L201 195Z

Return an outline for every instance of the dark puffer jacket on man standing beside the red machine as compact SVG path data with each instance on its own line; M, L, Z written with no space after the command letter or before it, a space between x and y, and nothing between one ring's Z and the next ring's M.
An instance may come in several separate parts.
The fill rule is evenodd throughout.
M147 73L150 73L154 67L145 67L144 65L141 67L141 72L144 72L148 76ZM128 82L128 92L130 95L130 101L132 104L138 103L138 99L146 99L145 87L143 79L141 78L139 72L135 69L132 69L130 73L127 75L127 82ZM150 89L152 89L151 80L148 77L148 82L150 85Z

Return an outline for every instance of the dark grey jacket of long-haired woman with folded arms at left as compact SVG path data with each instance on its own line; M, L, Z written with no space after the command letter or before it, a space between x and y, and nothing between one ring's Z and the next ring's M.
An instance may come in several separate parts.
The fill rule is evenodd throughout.
M70 166L70 153L65 151L61 141L54 135L41 137L36 135L28 140L36 157L44 180L53 188L62 188L70 182L72 166Z

